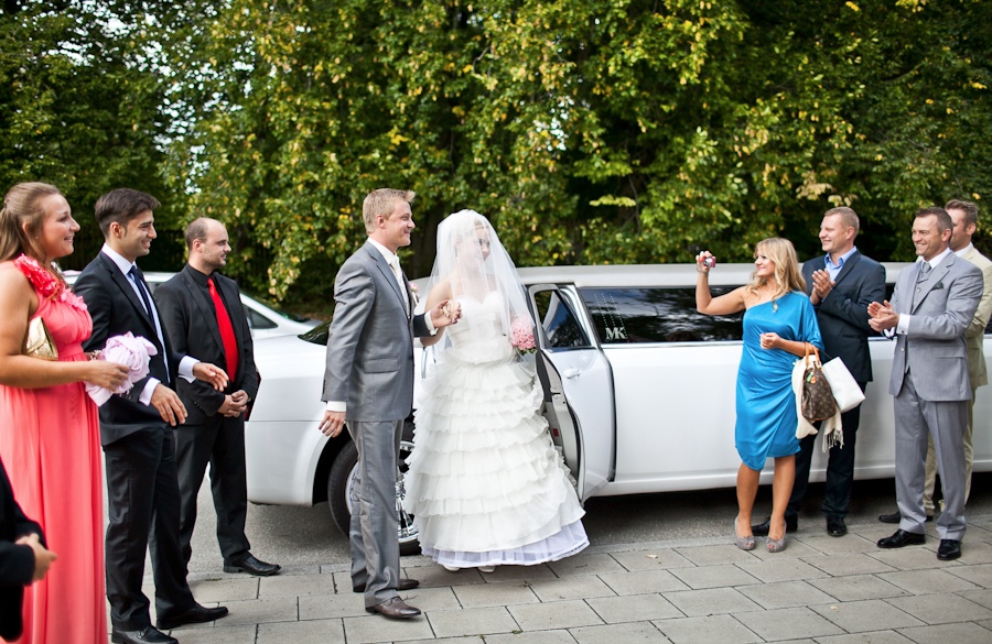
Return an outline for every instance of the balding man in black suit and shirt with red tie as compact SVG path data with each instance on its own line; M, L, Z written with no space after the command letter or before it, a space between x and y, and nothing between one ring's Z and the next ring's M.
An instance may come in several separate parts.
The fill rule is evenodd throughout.
M209 462L224 571L274 575L279 566L256 559L245 536L245 410L258 392L258 372L238 285L217 272L230 252L227 230L215 219L200 218L190 223L185 237L190 261L155 290L155 303L173 349L224 365L230 382L218 392L198 380L179 381L176 393L188 412L185 424L175 428L180 545L188 565L196 495Z

